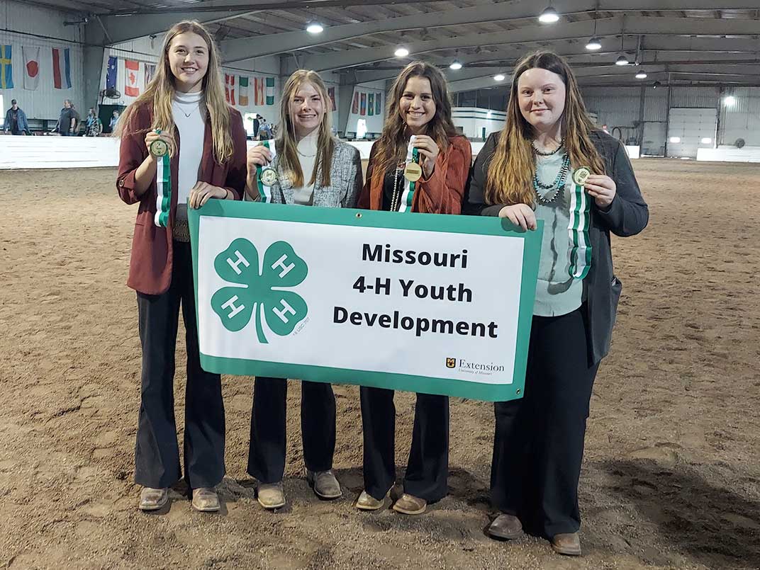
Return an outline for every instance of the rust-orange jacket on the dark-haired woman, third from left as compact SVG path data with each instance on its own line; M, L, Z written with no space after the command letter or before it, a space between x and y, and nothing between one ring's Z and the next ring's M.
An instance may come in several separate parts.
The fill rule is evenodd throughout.
M385 172L375 168L375 146L369 153L369 165L362 194L356 207L382 209L382 185ZM461 213L464 186L472 163L470 141L465 137L449 137L448 148L435 159L430 178L420 178L414 188L412 212L429 214Z

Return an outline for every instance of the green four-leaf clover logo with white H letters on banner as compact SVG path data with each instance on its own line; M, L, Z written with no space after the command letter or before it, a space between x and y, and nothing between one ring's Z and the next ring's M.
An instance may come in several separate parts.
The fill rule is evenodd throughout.
M290 335L306 318L309 307L301 296L285 289L306 279L309 267L285 241L276 241L264 253L264 266L258 272L258 250L244 238L237 238L214 259L214 269L226 282L211 297L211 307L225 329L237 332L255 313L258 342L268 344L261 326L261 313L275 335Z

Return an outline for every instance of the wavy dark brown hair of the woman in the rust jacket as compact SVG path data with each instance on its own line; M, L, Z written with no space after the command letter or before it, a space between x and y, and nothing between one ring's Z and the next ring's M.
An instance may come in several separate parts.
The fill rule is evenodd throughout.
M407 122L401 116L399 101L401 101L401 96L404 95L404 90L407 87L407 81L411 77L424 77L430 82L432 99L435 102L435 115L425 125L426 134L435 140L435 144L439 146L442 153L448 148L448 137L457 135L457 129L454 128L454 123L451 121L451 101L448 98L445 77L438 68L424 61L412 61L396 77L393 87L391 87L385 125L378 142L375 143L377 145L375 164L377 165L376 168L382 169L382 172L396 168L407 155L409 143L409 137L405 132Z

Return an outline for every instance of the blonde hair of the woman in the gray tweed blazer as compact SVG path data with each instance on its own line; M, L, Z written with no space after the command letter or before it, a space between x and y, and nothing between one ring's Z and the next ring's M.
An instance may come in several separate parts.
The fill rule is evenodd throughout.
M283 96L280 99L280 134L277 135L275 144L277 153L280 155L280 165L290 176L290 181L296 188L304 186L304 172L301 169L301 161L298 158L298 140L296 139L296 125L290 118L290 103L293 97L304 83L311 83L322 99L322 108L325 114L319 124L317 139L317 157L314 162L314 170L309 175L309 186L314 184L317 171L321 168L321 180L319 185L330 185L330 171L332 156L335 150L335 137L332 134L332 103L325 82L316 71L299 69L288 77L283 87Z

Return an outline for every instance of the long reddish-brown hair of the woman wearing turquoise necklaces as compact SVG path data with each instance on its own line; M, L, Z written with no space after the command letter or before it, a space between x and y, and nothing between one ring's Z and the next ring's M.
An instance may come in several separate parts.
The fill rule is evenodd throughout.
M553 52L539 51L526 55L515 67L506 124L486 175L486 203L534 204L536 161L531 141L535 135L533 127L520 112L518 99L520 76L534 68L552 71L565 83L565 111L560 120L565 150L570 156L572 168L585 165L591 167L594 174L604 174L604 161L591 142L594 123L588 118L575 74L565 58Z

